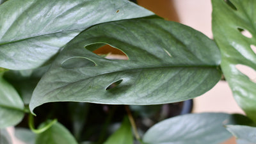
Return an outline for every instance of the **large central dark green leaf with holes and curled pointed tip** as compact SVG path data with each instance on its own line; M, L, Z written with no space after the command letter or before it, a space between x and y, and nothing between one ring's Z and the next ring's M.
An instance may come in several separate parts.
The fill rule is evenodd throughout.
M129 60L108 60L84 48L93 50L92 44L118 47ZM67 44L36 86L30 109L56 101L145 105L192 99L219 81L219 64L214 42L188 26L156 17L99 24Z

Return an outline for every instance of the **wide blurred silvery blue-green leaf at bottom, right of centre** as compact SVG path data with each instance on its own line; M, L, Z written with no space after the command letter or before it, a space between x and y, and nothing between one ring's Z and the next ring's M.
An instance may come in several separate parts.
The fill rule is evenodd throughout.
M232 135L225 129L230 115L197 113L175 116L159 122L144 135L147 144L219 144Z

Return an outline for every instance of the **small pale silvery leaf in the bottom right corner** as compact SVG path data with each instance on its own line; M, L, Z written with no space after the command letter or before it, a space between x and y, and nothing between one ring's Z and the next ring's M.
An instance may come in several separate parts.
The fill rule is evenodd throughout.
M256 127L246 125L227 125L227 130L236 137L237 144L256 143Z

